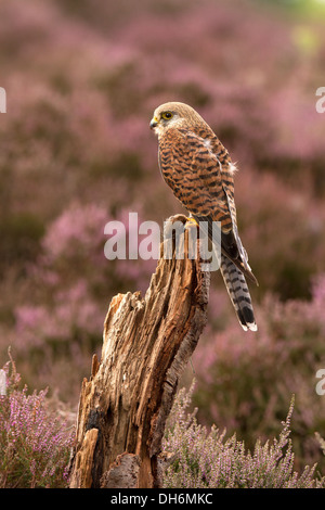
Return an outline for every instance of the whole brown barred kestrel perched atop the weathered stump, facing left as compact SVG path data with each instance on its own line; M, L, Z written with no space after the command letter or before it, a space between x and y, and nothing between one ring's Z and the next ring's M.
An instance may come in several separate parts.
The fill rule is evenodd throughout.
M220 270L245 331L257 330L245 277L257 283L237 230L235 165L212 129L184 103L158 106L151 120L158 135L159 167L167 184L197 224L221 224ZM211 239L212 240L212 239Z

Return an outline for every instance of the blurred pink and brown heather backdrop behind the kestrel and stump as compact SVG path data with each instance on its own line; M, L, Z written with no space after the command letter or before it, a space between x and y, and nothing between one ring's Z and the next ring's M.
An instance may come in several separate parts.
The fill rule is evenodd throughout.
M220 275L183 383L202 423L249 447L282 429L292 394L297 466L324 458L325 2L11 0L0 7L0 366L76 409L117 292L155 262L108 262L104 226L183 212L148 129L194 106L237 162L239 232L259 280L245 333Z

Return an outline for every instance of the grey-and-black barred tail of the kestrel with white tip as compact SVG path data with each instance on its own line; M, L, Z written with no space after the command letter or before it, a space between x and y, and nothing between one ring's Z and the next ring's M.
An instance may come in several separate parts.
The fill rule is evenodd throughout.
M251 298L243 272L223 254L220 270L242 328L245 331L257 331Z

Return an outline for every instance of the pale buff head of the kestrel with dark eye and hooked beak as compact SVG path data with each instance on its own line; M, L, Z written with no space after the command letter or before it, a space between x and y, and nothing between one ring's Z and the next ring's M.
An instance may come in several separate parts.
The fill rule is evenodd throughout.
M170 102L160 104L155 110L150 126L158 136L161 136L171 127L188 127L196 124L198 119L203 122L198 113L188 104Z

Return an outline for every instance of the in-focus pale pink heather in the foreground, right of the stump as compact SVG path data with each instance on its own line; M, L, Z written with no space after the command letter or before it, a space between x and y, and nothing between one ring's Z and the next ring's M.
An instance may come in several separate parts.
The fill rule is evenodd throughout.
M325 477L316 466L294 470L295 454L290 438L294 397L277 438L258 439L247 449L236 434L226 438L214 425L208 431L188 412L194 391L177 395L164 438L168 460L164 486L168 488L324 488Z

